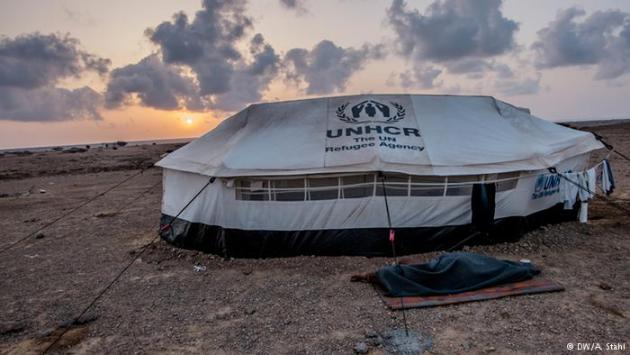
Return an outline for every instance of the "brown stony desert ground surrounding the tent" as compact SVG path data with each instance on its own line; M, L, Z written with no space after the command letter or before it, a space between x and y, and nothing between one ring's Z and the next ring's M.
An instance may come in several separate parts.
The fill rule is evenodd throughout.
M588 129L630 155L630 124ZM41 353L155 237L161 172L149 168L42 234L6 247L173 148L0 156L0 352ZM611 161L613 198L630 208L630 162L615 155ZM630 352L630 219L603 202L592 203L590 213L588 224L549 225L515 243L466 247L531 259L566 291L411 310L410 328L431 338L434 354L555 354L578 342L625 343ZM51 350L348 354L365 342L370 353L383 353L374 335L401 327L402 314L349 278L388 262L224 260L158 241Z

